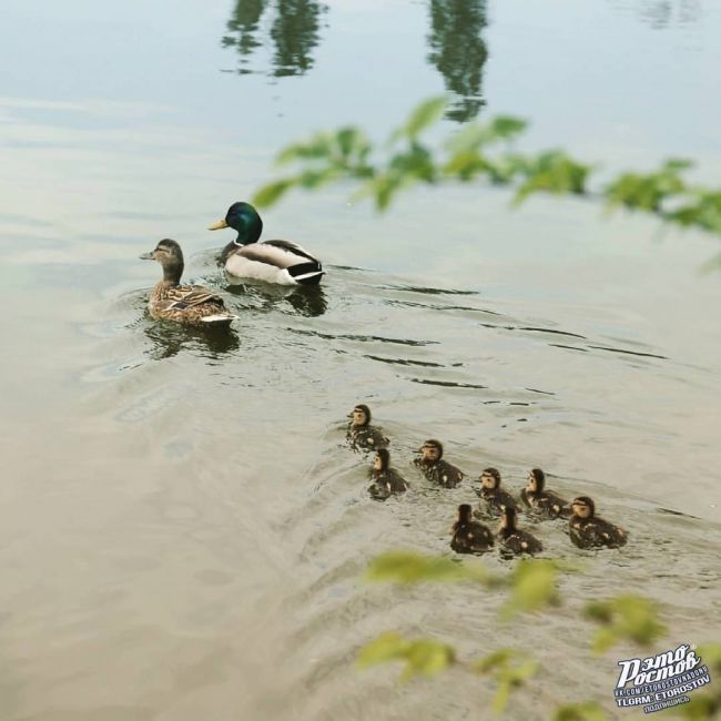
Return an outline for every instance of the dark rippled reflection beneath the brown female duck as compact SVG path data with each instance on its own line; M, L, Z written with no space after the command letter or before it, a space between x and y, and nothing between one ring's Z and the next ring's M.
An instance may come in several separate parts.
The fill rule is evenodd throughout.
M143 333L150 341L148 355L153 360L172 358L184 348L193 348L203 357L217 359L237 351L241 345L232 327L204 328L158 321L145 325Z

